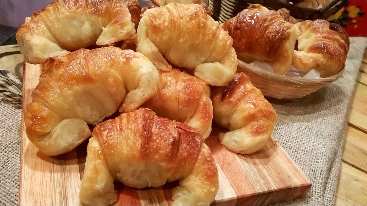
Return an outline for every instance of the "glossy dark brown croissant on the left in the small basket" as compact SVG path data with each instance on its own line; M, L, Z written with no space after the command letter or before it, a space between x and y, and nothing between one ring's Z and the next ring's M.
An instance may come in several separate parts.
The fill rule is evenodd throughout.
M297 30L279 13L253 4L226 21L223 29L233 38L240 60L268 61L275 73L285 74L292 65Z

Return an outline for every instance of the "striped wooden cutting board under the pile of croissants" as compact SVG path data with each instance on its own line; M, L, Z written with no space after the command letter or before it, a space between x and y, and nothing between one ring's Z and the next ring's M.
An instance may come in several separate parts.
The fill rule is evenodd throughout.
M25 133L23 116L31 93L39 82L40 67L26 63L23 71L23 110L19 205L80 205L88 141L57 157L42 154ZM205 141L219 172L219 190L213 205L270 205L301 198L311 183L281 146L270 139L266 147L251 155L235 154L219 144L224 130L214 125ZM161 188L134 189L116 183L116 205L170 205L177 182Z

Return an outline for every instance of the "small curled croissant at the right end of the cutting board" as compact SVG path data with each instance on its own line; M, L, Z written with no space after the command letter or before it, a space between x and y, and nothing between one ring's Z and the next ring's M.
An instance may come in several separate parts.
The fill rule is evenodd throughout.
M250 154L266 144L274 130L277 115L250 77L237 73L226 87L212 88L214 121L229 132L221 144L233 152Z

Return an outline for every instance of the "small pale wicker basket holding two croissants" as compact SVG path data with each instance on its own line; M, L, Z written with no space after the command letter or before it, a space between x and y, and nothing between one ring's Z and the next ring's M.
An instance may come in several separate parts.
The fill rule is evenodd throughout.
M344 73L344 68L337 74L326 78L297 78L270 73L238 60L237 72L247 74L251 83L266 97L294 100L316 92L321 87L337 80Z

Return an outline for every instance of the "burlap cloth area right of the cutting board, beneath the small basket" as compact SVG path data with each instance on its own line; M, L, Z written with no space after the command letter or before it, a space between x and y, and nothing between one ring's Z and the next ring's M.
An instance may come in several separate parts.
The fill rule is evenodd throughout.
M273 136L312 182L302 199L282 205L334 205L348 112L366 37L351 37L341 78L297 102L275 102Z

